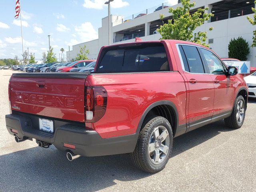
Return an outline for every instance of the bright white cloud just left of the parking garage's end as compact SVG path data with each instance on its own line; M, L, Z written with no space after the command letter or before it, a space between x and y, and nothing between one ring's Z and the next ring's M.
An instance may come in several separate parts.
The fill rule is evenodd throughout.
M80 26L75 26L76 35L80 36L83 42L98 38L98 33L90 22L84 22Z

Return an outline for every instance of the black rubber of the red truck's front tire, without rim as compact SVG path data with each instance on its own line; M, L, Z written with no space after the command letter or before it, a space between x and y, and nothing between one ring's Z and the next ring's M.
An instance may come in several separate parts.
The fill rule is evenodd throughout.
M242 101L244 104L244 116L242 118L242 121L239 123L236 118L236 112L237 112L236 108L240 101ZM228 126L229 128L232 128L232 129L239 129L240 127L242 127L242 125L244 123L245 112L246 112L246 105L245 105L244 97L242 95L239 95L234 102L234 107L233 107L231 116L224 119L226 126Z

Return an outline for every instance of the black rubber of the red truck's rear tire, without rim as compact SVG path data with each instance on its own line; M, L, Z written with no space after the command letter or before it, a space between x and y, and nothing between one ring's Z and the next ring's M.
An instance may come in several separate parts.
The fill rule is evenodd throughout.
M168 152L166 153L166 157L160 162L160 164L154 164L150 160L148 145L150 142L150 136L153 133L154 129L158 126L164 126L168 131L170 138L170 145L168 148ZM168 136L167 136L168 137ZM140 134L138 136L138 141L133 153L131 153L132 162L134 165L149 173L156 173L162 170L167 164L170 154L172 152L173 145L173 134L172 134L172 126L168 122L168 120L161 116L153 116L144 122L144 126L142 130L140 130Z

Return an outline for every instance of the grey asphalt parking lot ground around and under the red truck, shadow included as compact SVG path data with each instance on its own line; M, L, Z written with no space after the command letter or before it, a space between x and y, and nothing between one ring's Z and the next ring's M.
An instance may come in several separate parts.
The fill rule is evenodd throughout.
M166 168L147 174L127 154L69 162L54 146L17 144L5 126L11 74L0 70L0 191L256 191L256 100L242 128L219 121L175 138Z

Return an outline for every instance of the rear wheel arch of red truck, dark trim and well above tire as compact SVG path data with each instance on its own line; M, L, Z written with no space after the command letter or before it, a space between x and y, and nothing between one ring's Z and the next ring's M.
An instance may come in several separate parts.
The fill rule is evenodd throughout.
M159 116L164 116L169 122L171 121L170 124L172 125L173 136L175 136L179 122L178 111L175 104L168 100L154 102L146 108L142 114L142 117L140 118L136 133L140 133L144 120L146 120L149 116L154 115L154 110L158 110Z

